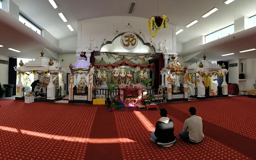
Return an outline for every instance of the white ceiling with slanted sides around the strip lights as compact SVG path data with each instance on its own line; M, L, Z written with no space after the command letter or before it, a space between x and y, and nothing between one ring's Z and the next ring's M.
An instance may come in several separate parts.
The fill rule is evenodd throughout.
M255 0L236 0L229 5L224 0L55 0L59 5L53 9L48 0L12 0L20 6L21 13L34 22L39 28L46 29L57 39L74 37L77 34L77 21L81 19L105 17L111 15L131 15L134 17L150 18L152 15L167 15L169 22L184 29L177 35L177 41L184 43L200 35L207 35L234 23L235 19L256 14ZM128 13L131 2L137 3L132 14ZM207 18L201 16L213 7L219 11ZM63 22L58 13L63 12L68 22ZM199 22L190 27L185 26L193 21ZM73 26L71 32L67 25Z

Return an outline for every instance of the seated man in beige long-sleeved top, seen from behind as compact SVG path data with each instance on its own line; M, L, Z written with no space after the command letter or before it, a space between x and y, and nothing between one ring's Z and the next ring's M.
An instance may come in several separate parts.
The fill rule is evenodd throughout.
M196 116L196 108L189 108L190 118L186 119L179 136L189 143L200 143L204 139L202 117Z

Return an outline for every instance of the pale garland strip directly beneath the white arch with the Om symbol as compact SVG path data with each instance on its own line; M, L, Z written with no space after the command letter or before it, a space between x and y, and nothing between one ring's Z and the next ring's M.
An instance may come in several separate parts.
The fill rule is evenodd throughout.
M122 59L122 60L143 60L145 58L149 58L151 54L141 54L141 55L123 55L123 54L116 54L116 53L109 53L105 52L108 58Z

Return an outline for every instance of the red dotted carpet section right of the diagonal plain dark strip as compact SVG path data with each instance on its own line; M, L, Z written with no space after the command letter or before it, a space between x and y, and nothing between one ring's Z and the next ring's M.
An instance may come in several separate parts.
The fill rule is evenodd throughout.
M214 100L172 103L168 106L188 113L196 107L205 121L256 140L256 99L236 96Z

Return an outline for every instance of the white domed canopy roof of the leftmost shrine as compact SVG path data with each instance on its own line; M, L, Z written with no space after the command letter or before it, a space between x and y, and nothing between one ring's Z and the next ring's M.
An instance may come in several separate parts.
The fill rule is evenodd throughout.
M48 74L48 73L62 73L64 70L61 68L61 65L58 61L51 60L50 58L43 57L44 53L41 52L41 57L38 57L35 60L28 61L26 64L23 64L22 60L20 61L20 67L15 66L14 70L18 74Z

